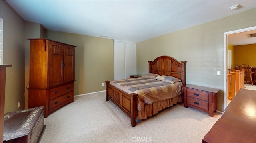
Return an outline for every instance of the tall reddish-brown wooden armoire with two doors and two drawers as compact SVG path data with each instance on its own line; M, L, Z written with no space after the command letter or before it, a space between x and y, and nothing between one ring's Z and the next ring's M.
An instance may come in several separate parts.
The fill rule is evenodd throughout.
M45 106L44 117L74 102L75 47L49 39L30 40L28 108Z

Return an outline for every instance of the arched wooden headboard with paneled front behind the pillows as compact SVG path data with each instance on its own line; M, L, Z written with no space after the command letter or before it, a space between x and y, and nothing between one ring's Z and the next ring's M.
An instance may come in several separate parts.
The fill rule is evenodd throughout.
M174 76L179 78L183 85L186 84L186 62L177 61L170 56L160 56L154 61L148 61L148 72L159 75Z

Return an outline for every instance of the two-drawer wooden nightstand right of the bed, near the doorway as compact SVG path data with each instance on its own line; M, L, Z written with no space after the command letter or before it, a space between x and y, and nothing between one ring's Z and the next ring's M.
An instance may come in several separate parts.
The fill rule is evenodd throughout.
M213 116L217 110L218 89L186 84L183 86L184 107L192 107Z

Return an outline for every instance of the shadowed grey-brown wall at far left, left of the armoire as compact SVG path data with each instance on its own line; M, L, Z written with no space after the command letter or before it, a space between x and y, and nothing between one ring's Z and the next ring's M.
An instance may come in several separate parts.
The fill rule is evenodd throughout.
M3 19L4 64L6 69L5 110L24 109L24 20L3 0L0 1ZM18 102L21 102L18 108Z

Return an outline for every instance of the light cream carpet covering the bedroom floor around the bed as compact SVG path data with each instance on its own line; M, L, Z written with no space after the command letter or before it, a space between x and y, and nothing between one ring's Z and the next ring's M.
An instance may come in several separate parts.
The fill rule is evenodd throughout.
M99 92L76 96L44 118L41 143L200 143L221 116L177 104L132 127L130 118Z

